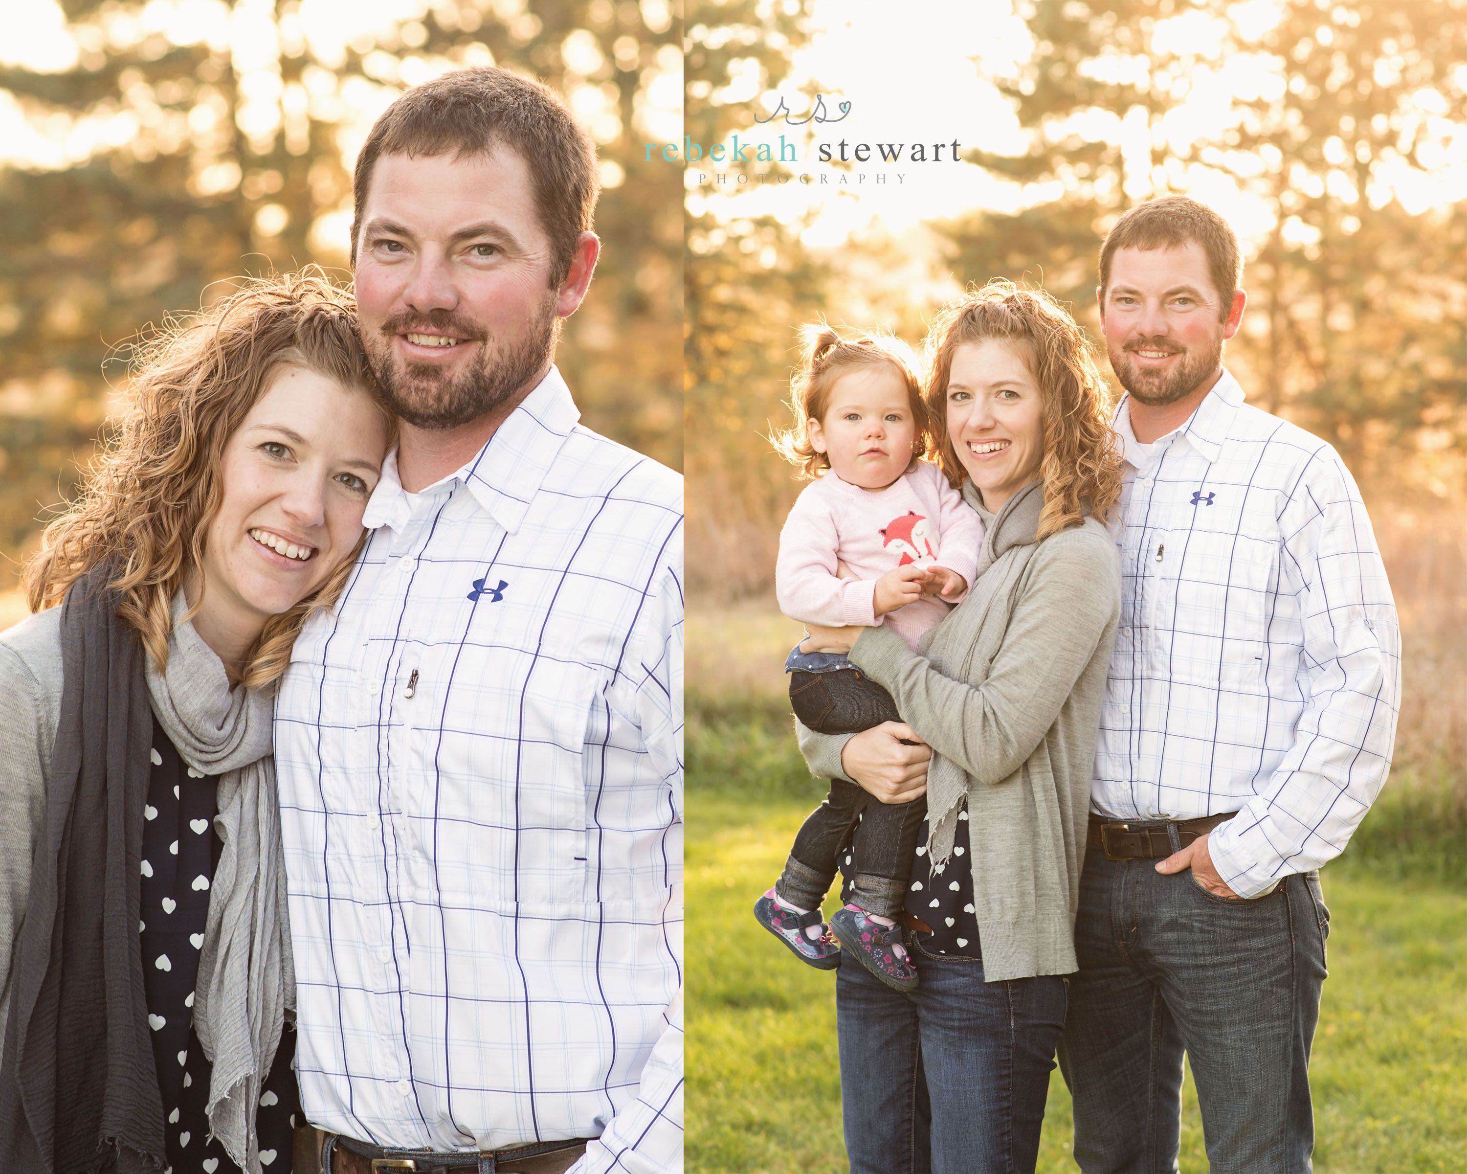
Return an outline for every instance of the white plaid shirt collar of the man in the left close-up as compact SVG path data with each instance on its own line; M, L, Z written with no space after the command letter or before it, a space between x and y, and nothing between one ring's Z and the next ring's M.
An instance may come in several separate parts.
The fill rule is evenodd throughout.
M468 464L424 493L462 481L494 521L513 534L579 418L571 389L552 367ZM398 449L393 449L383 461L381 480L367 502L362 525L402 530L411 518L412 503L398 477Z

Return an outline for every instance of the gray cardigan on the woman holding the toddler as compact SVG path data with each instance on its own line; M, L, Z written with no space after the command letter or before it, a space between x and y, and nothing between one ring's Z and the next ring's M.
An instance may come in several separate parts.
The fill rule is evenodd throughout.
M978 512L990 543L1002 517ZM967 772L984 979L1068 974L1078 970L1074 926L1100 704L1121 615L1119 556L1094 519L1045 539L1015 586L992 663L961 679L958 666L984 615L980 594L924 637L921 655L876 627L861 632L851 662L892 694L936 753ZM849 737L800 726L800 748L816 775L848 778L841 753Z

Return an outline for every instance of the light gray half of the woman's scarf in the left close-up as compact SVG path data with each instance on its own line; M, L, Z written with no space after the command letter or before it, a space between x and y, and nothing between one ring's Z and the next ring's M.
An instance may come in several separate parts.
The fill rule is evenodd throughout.
M274 706L257 690L229 688L220 659L192 624L182 622L186 609L179 591L169 666L160 675L148 662L148 694L179 757L201 775L219 775L214 828L224 847L208 892L194 1030L214 1065L210 1130L235 1165L260 1174L260 1086L274 1062L286 1010L295 1016L280 806L270 753Z

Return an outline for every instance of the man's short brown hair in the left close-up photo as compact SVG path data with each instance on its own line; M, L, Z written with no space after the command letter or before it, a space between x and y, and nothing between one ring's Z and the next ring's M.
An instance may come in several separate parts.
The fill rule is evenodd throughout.
M553 90L491 66L415 85L377 119L352 178L352 266L378 156L462 158L505 147L530 169L540 227L550 238L550 288L563 285L575 241L591 230L596 213L596 147Z

